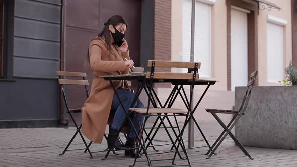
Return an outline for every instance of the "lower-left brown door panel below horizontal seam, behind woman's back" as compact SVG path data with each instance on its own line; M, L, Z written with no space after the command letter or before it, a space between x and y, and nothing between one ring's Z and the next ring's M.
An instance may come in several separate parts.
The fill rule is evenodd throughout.
M66 27L65 45L65 70L73 72L86 72L89 80L89 91L92 84L92 71L88 66L87 51L90 40L97 34L94 31ZM67 86L68 102L70 108L81 108L86 100L84 86ZM81 114L74 114L78 123L81 122ZM70 125L73 125L70 122Z

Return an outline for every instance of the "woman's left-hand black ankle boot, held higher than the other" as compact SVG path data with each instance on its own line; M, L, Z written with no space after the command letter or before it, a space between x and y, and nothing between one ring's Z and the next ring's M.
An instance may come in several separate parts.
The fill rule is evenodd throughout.
M113 150L115 148L116 150L127 150L129 149L128 146L122 145L119 141L119 130L109 128L109 133L107 136L107 146L108 149Z

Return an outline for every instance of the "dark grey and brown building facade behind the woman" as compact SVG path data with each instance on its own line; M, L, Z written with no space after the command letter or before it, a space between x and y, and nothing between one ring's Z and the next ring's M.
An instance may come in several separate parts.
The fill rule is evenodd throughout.
M56 71L87 72L91 83L89 43L116 14L128 22L125 38L135 66L171 52L171 43L162 41L171 40L170 0L1 0L0 128L67 121ZM70 107L82 107L84 90L66 92ZM80 114L76 118L80 122Z

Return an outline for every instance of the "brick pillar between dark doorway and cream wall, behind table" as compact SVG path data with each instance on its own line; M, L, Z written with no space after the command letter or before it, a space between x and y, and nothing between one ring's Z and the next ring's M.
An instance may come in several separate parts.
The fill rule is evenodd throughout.
M171 60L171 0L155 0L154 3L154 60ZM170 72L170 68L157 68ZM169 87L167 84L156 85Z

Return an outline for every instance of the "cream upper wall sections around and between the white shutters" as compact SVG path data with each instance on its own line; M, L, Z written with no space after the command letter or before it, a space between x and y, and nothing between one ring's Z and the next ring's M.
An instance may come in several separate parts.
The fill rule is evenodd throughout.
M267 15L287 21L284 26L284 67L292 59L291 2L268 0L281 7L281 10L260 10L258 15L258 70L259 85L275 85L268 83L266 65L266 30ZM182 49L182 0L172 1L172 53L171 60L179 60ZM173 69L173 71L176 71ZM211 5L211 78L219 80L214 90L227 90L227 6L226 1L217 0ZM284 75L285 76L285 75Z

